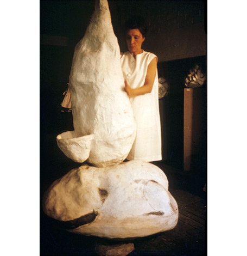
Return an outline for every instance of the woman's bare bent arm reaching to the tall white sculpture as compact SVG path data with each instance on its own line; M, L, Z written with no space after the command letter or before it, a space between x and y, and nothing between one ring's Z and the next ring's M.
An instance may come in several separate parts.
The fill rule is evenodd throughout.
M153 58L151 62L148 65L147 69L147 75L145 77L145 82L144 86L132 89L129 84L125 82L125 91L128 94L129 97L132 96L137 96L137 95L143 95L146 93L151 93L153 89L153 84L155 80L155 75L156 75L156 70L157 70L157 57Z

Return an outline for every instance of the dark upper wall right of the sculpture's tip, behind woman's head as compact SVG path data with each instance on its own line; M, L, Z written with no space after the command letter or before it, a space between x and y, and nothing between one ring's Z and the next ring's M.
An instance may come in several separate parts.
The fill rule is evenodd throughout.
M112 23L122 51L126 49L119 28L130 15L145 17L148 25L144 50L155 53L159 62L206 54L204 1L110 1Z

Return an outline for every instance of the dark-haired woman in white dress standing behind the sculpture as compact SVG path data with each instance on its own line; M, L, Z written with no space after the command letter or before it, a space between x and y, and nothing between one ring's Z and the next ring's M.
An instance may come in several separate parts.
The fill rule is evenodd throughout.
M128 50L122 53L121 65L125 91L137 123L137 134L128 160L162 160L159 113L157 56L142 49L147 27L140 17L125 23Z

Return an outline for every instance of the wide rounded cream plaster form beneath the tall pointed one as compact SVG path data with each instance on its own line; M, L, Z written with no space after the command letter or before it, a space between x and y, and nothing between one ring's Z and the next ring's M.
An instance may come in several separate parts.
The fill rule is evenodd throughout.
M43 210L68 231L110 239L173 229L179 214L166 175L140 160L72 169L48 188Z

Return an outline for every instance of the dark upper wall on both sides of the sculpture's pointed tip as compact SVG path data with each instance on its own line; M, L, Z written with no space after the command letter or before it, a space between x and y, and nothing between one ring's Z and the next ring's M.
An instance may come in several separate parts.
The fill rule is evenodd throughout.
M133 14L148 25L143 44L159 61L206 54L205 2L199 0L109 0L112 26L121 51L126 51L124 22ZM94 10L91 1L40 1L40 34L65 36L72 48L85 33Z

